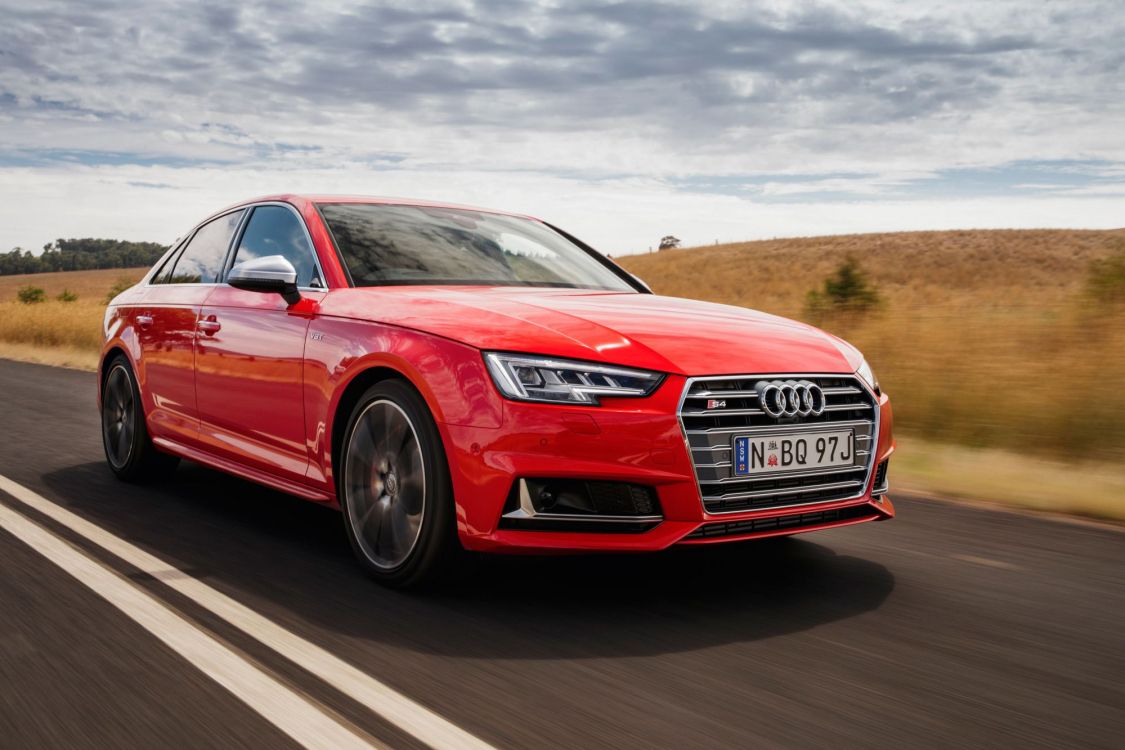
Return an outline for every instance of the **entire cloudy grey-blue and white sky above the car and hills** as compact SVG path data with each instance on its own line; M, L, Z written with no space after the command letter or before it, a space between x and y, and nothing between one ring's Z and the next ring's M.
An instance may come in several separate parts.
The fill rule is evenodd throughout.
M0 251L315 191L610 253L1125 225L1125 4L0 0Z

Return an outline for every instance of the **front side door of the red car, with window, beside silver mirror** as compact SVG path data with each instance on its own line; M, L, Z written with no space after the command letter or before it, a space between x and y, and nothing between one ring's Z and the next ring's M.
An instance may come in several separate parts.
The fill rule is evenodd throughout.
M282 255L302 300L220 283L207 298L196 345L196 392L206 446L291 481L308 468L303 359L324 277L304 219L288 204L255 206L230 265Z

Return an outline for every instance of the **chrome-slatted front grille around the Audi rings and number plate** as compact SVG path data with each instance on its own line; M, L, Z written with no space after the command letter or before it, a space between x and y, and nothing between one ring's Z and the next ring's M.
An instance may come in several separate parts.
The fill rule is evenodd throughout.
M825 413L774 419L759 408L758 395L754 390L759 380L814 382L825 391ZM709 405L709 401L724 405ZM708 513L757 510L858 497L871 476L878 417L874 398L854 376L696 378L688 381L680 407L680 423ZM849 466L796 469L758 477L734 473L731 452L735 437L781 437L837 427L850 428L855 433L854 461Z

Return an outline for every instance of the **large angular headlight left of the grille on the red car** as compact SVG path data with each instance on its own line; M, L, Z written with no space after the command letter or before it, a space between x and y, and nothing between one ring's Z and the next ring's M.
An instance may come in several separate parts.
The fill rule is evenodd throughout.
M485 363L500 391L518 401L597 406L598 396L648 396L664 380L659 372L533 354L486 352Z

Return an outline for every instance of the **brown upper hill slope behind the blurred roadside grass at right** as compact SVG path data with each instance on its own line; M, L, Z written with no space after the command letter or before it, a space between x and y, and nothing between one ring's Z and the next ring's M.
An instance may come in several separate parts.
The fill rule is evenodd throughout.
M966 229L764 240L614 259L659 293L799 316L848 255L896 308L1059 302L1125 229Z

